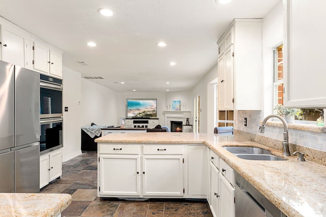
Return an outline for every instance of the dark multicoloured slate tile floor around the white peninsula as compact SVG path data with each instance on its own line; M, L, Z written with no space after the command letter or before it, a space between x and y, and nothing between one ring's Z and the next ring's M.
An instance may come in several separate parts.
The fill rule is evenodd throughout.
M72 216L209 216L211 211L203 200L125 201L118 198L97 197L97 153L83 154L63 163L61 179L53 180L41 193L65 193L72 202L62 212L63 217Z

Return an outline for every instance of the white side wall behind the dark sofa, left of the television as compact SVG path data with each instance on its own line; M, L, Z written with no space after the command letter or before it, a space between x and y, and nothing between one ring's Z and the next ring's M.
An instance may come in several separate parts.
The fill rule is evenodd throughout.
M82 126L118 126L119 98L119 92L82 78Z

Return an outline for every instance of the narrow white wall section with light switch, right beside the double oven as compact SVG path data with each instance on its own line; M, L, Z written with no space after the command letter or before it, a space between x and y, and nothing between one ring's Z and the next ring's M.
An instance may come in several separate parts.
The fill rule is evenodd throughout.
M82 126L82 107L80 105L80 73L63 67L63 161L82 153L80 150L80 127Z

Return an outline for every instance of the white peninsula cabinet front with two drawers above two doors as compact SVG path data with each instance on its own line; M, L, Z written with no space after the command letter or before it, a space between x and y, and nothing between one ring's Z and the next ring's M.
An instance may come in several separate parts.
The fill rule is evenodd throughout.
M182 145L100 144L99 197L183 197Z

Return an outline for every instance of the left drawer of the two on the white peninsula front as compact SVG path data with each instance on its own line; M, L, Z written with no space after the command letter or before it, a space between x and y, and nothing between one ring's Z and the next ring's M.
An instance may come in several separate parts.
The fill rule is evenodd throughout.
M100 153L110 154L139 154L139 145L121 145L121 144L110 144L100 145Z

